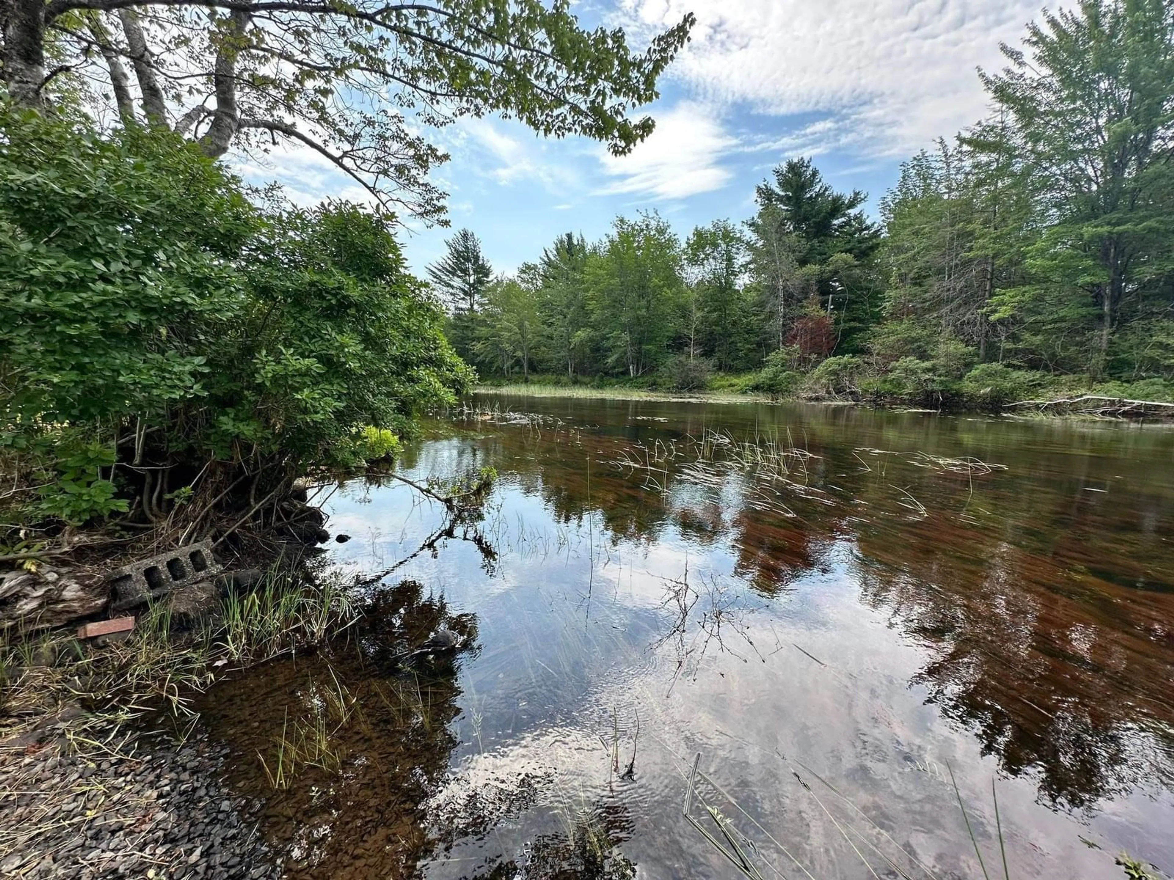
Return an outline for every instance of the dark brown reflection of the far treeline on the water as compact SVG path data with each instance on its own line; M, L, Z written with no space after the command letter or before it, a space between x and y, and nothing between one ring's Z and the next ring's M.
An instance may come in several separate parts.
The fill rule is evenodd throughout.
M1122 473L1168 459L1161 432L850 408L804 409L792 429L764 427L780 418L765 407L562 404L561 420L483 414L468 445L559 521L596 517L613 546L727 543L733 574L764 597L848 547L863 601L931 655L912 683L1004 771L1068 807L1174 790L1174 494ZM714 425L776 456L794 445L787 473L701 454ZM1146 488L1104 490L1124 476Z

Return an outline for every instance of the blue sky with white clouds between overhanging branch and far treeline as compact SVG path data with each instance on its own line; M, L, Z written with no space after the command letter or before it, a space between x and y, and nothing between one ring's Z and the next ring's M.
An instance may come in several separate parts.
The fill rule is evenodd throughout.
M655 209L681 236L753 214L754 188L792 156L812 156L837 189L870 209L899 163L985 113L976 68L1000 66L1039 0L605 0L576 4L583 23L623 27L642 48L693 12L697 26L645 108L656 131L626 157L583 138L548 141L497 117L436 133L452 160L434 177L450 192L451 229L410 223L409 263L423 272L456 229L472 229L494 269L511 272L562 232L599 238L616 215ZM268 167L301 203L365 201L317 155L290 150Z

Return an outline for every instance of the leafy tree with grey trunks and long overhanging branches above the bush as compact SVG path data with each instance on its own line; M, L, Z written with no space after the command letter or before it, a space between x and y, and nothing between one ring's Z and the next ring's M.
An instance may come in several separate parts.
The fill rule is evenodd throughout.
M625 154L693 21L633 52L565 0L0 0L0 75L29 107L87 83L214 157L308 148L385 209L440 219L446 156L421 129L499 113Z

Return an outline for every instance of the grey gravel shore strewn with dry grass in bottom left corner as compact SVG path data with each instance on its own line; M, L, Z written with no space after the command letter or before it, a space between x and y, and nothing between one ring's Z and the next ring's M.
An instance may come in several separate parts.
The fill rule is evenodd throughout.
M177 742L113 726L70 744L73 720L0 746L0 876L282 875L258 831L261 803L221 781L224 746L198 729Z

